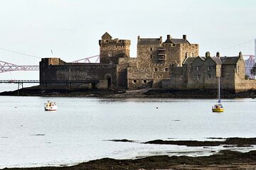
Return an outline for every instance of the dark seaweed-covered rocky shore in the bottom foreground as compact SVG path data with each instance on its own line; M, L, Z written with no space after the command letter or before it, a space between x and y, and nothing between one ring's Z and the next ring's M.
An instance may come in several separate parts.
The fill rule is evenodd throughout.
M83 162L74 166L42 166L30 168L5 168L10 170L109 170L109 169L132 169L132 170L152 170L152 169L255 169L256 151L235 152L222 150L219 154L202 157L187 156L153 156L142 159L110 159L103 158L90 162Z

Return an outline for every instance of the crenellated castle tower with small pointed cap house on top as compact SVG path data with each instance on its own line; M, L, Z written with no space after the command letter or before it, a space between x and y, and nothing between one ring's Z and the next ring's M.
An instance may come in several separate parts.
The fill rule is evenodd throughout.
M129 57L130 40L112 40L112 36L106 32L99 40L99 45L102 64L117 63L119 57Z

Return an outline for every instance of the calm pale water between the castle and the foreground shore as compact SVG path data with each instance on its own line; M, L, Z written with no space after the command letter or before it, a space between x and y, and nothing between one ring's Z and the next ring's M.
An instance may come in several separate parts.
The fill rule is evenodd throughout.
M58 111L44 111L43 104L49 99L58 103ZM142 142L255 137L256 99L223 100L224 113L211 112L215 102L171 98L0 96L0 169L71 165L103 157L208 155L223 147ZM109 141L122 139L136 142ZM233 149L245 152L255 147Z

